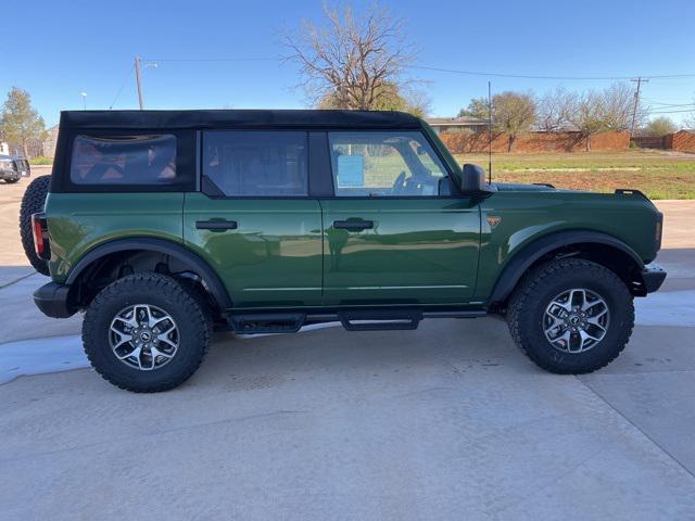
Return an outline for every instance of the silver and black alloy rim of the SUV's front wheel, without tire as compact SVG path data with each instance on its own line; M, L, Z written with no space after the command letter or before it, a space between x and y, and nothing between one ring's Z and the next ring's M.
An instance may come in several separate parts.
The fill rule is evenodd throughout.
M556 350L583 353L606 336L609 322L606 301L594 291L576 288L564 291L547 305L543 332Z

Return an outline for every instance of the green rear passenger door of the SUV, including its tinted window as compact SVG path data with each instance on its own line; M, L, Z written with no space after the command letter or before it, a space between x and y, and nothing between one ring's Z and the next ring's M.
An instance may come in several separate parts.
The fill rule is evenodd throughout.
M201 192L187 193L184 240L236 308L321 302L321 213L308 196L307 132L201 132Z

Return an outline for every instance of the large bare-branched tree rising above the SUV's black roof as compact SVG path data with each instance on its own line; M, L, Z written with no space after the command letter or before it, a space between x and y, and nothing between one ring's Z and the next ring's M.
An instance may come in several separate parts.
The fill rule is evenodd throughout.
M342 12L324 5L326 24L303 21L296 34L283 38L288 60L299 63L300 84L313 104L332 100L340 109L383 106L393 89L402 93L414 51L404 36L404 22L375 4L364 17L351 8Z

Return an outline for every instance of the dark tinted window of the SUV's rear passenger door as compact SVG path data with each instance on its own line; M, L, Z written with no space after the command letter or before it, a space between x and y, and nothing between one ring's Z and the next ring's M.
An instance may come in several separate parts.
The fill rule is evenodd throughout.
M226 196L305 196L306 132L203 132L203 175Z

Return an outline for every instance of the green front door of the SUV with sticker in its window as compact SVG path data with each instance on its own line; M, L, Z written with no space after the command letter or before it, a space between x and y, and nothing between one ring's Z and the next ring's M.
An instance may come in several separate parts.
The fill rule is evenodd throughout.
M334 198L323 199L324 304L464 304L478 269L480 209L451 195L418 131L329 132Z

